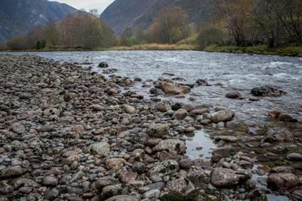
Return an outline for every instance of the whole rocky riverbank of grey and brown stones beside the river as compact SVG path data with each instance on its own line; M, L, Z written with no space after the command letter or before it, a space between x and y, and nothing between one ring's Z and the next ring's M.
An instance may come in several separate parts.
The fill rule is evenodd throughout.
M228 109L144 99L135 82L0 55L0 200L302 199L300 122L245 130ZM218 148L187 157L184 135L204 127Z

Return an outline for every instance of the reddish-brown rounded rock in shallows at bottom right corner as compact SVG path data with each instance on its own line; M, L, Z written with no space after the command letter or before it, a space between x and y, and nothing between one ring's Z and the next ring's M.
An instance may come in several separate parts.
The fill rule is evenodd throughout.
M298 178L293 173L272 173L267 184L276 190L292 190L298 185Z

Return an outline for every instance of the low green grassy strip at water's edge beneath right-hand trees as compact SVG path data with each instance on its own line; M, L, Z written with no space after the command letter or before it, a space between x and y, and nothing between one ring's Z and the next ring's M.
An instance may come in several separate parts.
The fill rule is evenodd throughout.
M250 53L260 55L286 55L302 57L302 46L287 46L284 48L268 48L267 45L256 45L249 47L238 46L217 46L210 45L205 48L207 52L221 52L221 53Z

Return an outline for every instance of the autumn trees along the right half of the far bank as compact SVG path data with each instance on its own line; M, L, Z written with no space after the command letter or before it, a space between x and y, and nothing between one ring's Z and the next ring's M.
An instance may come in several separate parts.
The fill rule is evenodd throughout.
M146 30L129 28L121 45L177 43L197 35L200 48L209 45L302 45L301 0L214 0L216 13L197 28L180 7L162 9Z

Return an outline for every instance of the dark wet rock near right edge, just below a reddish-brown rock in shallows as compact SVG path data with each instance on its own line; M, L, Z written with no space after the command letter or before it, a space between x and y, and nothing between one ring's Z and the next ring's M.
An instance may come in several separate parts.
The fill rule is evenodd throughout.
M293 134L287 129L271 129L264 137L266 142L293 142Z

